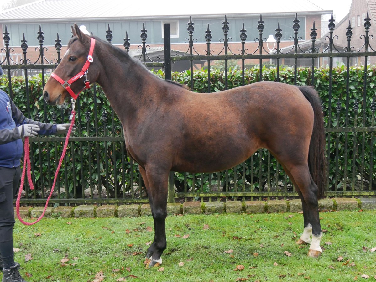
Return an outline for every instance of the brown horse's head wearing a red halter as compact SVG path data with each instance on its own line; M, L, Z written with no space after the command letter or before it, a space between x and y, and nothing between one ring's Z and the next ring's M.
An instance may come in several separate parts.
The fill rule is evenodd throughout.
M44 100L49 105L62 105L70 96L76 99L99 76L98 63L93 59L95 39L85 35L76 23L72 32L67 52L43 89Z

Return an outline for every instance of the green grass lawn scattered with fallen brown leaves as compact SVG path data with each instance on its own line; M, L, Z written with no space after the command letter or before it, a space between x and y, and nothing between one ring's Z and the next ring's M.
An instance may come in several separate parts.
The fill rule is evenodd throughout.
M160 271L143 263L154 238L152 217L45 218L31 227L17 221L15 260L23 275L32 275L27 281L99 282L100 271L103 281L376 280L376 251L370 251L376 247L376 211L320 217L327 232L316 259L306 256L307 246L295 244L303 215L284 213L168 216ZM234 271L237 265L244 270Z

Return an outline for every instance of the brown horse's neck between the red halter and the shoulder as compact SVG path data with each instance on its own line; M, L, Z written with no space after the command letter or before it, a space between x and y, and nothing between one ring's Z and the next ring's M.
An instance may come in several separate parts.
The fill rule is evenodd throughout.
M104 46L108 49L111 46ZM111 47L113 48L113 47ZM102 70L97 82L122 123L134 119L140 107L153 107L162 99L161 80L127 55L111 50L100 52Z

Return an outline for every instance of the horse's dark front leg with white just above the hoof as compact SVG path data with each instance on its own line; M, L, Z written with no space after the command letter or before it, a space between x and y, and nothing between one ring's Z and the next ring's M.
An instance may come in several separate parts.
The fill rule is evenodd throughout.
M162 264L161 255L167 246L165 220L167 216L168 173L170 171L146 167L145 172L149 184L147 191L148 194L151 194L149 199L152 198L150 208L154 220L154 241L147 250L149 261L146 268L150 268Z

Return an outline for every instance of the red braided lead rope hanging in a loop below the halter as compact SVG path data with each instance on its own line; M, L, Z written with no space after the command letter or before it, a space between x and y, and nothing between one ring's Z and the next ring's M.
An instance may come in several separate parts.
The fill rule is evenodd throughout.
M50 198L52 196L53 190L55 188L55 183L56 183L56 179L58 178L58 173L59 173L61 164L63 162L65 153L67 152L68 140L69 140L69 136L70 136L71 131L72 131L72 127L74 125L74 115L75 114L76 114L76 112L74 110L72 110L72 121L71 121L71 124L70 124L69 129L68 129L67 137L65 137L64 149L63 149L63 152L62 152L61 157L60 157L58 168L56 169L56 172L55 172L55 179L53 180L53 184L52 184L52 187L51 187L50 195L47 198L47 202L46 202L46 205L44 206L44 210L42 212L42 215L36 221L34 221L34 222L26 222L20 216L20 199L21 199L21 191L22 191L22 188L23 188L24 180L25 180L26 165L27 165L27 180L29 181L30 189L34 190L34 185L33 185L32 179L31 179L31 172L30 172L29 137L25 137L24 166L23 166L23 170L22 170L20 190L18 191L18 196L17 196L17 201L16 201L17 217L21 221L21 223L23 223L25 225L33 225L33 224L37 223L39 220L41 220L43 218L43 216L44 216L44 213L45 213L45 211L47 209L47 206L48 206L48 202L49 202L49 200L50 200Z

